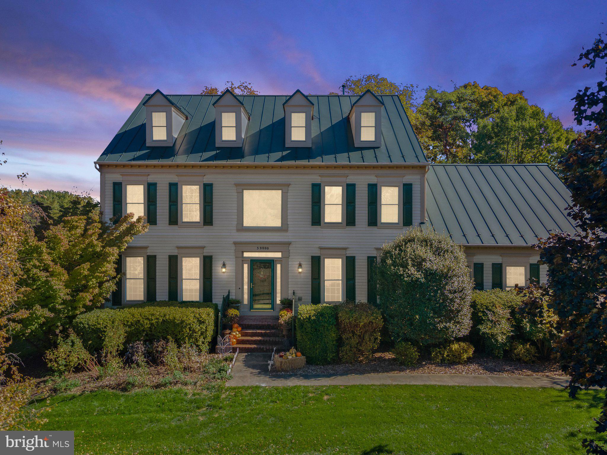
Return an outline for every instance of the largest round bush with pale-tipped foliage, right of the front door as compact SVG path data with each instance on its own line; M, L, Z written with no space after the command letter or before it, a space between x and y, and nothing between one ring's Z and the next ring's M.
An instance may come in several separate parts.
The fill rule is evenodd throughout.
M462 246L410 229L385 244L376 268L378 307L395 342L435 345L470 331L472 280Z

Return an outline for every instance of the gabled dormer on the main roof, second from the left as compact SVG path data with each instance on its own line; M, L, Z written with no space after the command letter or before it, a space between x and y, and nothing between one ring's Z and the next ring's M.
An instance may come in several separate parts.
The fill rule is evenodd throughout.
M242 147L251 115L234 93L226 90L213 103L215 107L215 146Z

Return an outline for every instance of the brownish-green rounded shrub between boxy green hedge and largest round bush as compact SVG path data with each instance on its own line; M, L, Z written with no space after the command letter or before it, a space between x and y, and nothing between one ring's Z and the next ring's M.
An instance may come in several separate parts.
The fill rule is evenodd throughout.
M367 302L347 302L339 305L337 327L341 335L341 361L367 362L379 345L383 325L379 310Z

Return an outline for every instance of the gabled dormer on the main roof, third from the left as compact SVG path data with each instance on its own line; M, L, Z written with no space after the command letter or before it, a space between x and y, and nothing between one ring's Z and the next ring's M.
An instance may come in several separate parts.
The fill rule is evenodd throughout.
M311 147L314 104L297 89L282 107L285 109L285 147Z

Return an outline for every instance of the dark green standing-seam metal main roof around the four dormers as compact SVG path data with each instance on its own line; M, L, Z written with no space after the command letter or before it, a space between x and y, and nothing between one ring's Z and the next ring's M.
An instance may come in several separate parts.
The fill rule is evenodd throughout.
M188 120L172 147L146 146L146 95L97 161L172 163L426 163L407 114L396 95L378 95L382 146L354 147L348 112L358 95L308 95L314 104L311 147L285 147L288 96L236 96L251 113L242 147L215 147L219 95L166 95Z

